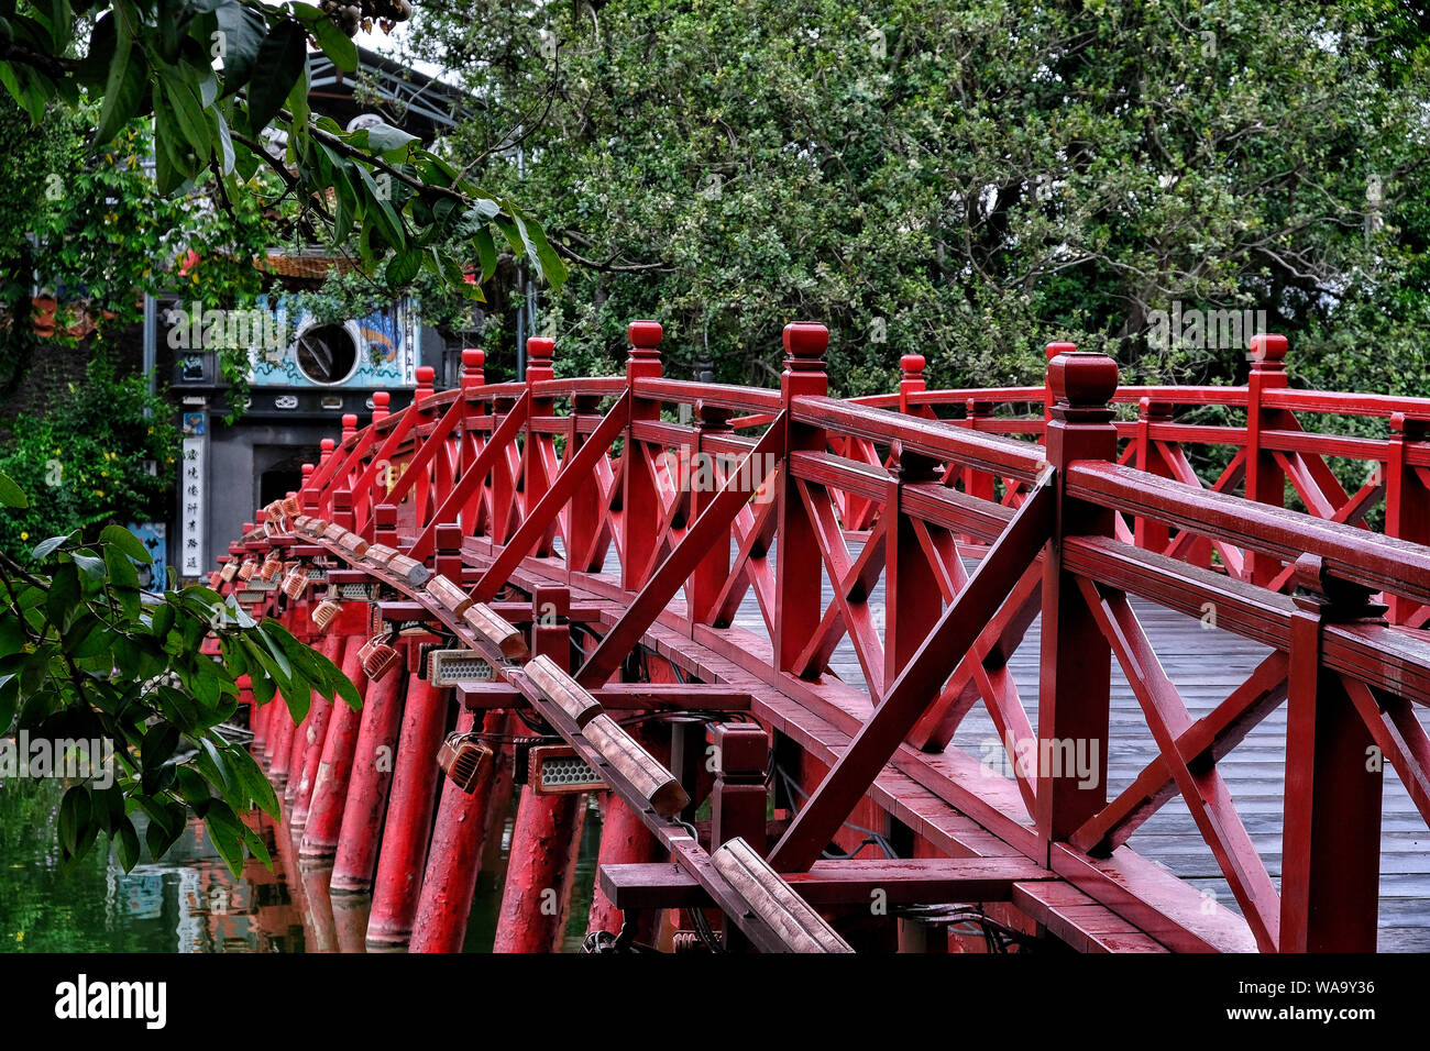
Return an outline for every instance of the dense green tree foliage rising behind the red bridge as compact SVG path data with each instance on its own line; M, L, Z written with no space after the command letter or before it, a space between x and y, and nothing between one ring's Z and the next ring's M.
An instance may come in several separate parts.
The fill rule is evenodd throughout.
M1421 4L473 10L419 7L416 53L488 103L453 156L601 263L542 305L568 373L649 316L669 372L756 383L784 323L825 322L845 395L911 352L941 386L1031 382L1052 339L1134 380L1243 378L1244 347L1148 346L1180 300L1266 310L1313 383L1430 379Z

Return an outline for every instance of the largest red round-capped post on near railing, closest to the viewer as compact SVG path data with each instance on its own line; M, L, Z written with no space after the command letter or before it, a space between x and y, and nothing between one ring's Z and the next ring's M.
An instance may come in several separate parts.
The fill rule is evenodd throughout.
M1108 406L1117 392L1117 365L1104 355L1064 349L1067 343L1054 346L1060 350L1048 363L1048 390L1055 402L1045 446L1057 470L1057 512L1042 568L1035 771L1037 825L1050 845L1067 839L1107 804L1113 651L1088 613L1077 578L1062 568L1061 548L1065 536L1113 535L1111 510L1065 495L1068 465L1117 458L1117 426ZM1095 764L1095 778L1064 769L1064 762L1042 761L1070 751Z

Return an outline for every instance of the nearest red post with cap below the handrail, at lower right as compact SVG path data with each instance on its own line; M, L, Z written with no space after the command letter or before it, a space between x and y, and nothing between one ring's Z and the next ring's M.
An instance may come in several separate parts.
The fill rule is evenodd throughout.
M1283 952L1374 952L1380 907L1383 758L1341 684L1323 665L1326 623L1384 623L1364 588L1296 563L1281 827Z

